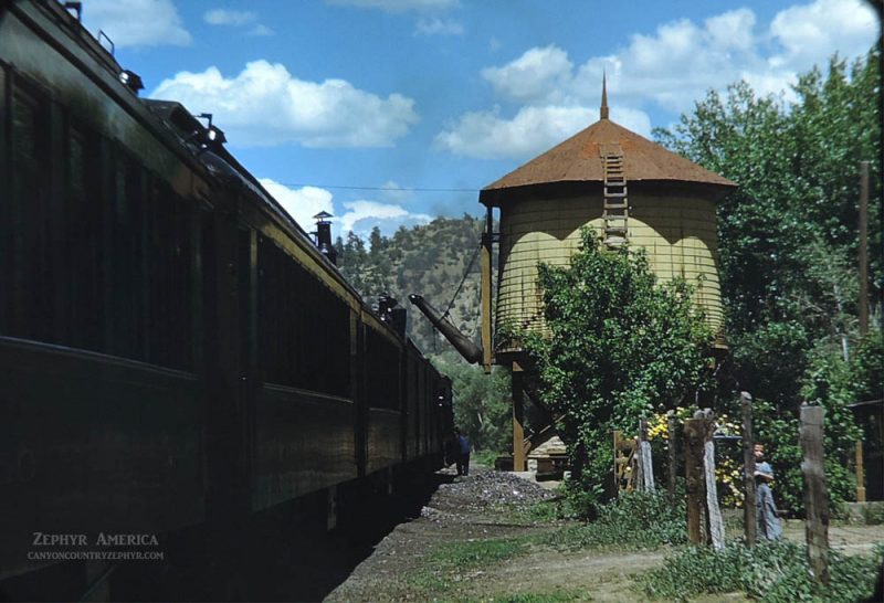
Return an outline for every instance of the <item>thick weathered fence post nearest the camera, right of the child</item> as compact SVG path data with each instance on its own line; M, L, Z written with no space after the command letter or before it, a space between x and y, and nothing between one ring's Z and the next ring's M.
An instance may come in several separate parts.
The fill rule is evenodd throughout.
M807 510L806 535L808 560L813 579L829 583L829 491L823 468L823 417L822 406L801 406L799 431L804 459L804 508Z

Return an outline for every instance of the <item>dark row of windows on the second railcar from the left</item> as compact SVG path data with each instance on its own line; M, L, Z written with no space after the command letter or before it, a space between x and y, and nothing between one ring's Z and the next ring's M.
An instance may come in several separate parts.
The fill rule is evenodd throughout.
M273 241L259 265L259 362L264 380L349 396L349 308Z

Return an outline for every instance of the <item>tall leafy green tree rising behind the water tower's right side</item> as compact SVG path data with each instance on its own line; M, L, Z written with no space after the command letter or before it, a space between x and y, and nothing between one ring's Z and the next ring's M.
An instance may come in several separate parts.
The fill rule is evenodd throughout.
M876 72L874 52L850 68L834 57L828 75L814 68L799 77L791 103L739 83L724 97L709 92L671 130L655 130L665 146L739 184L718 208L732 337L798 321L830 348L855 338L861 160L872 161L873 194L881 191ZM871 211L876 224L876 203ZM882 233L870 235L877 248ZM880 258L872 269L881 274Z

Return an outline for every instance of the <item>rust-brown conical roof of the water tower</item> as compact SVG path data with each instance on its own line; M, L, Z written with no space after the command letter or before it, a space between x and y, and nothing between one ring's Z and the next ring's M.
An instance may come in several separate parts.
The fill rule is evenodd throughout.
M656 142L602 118L524 166L482 189L485 201L493 191L551 182L592 182L603 180L600 149L617 146L623 151L627 181L642 180L694 182L736 187L734 182L701 168Z

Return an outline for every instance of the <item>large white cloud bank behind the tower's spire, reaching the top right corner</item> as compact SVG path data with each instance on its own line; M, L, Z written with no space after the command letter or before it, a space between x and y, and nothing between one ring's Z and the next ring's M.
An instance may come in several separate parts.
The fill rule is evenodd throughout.
M674 113L693 108L709 88L746 80L757 92L791 96L797 74L824 66L835 52L854 57L874 43L876 22L861 0L815 0L778 13L769 27L746 8L697 24L678 20L651 35L634 34L615 54L585 62L571 92L598 97L603 67L609 98L640 105L649 100ZM611 77L613 75L613 77Z

